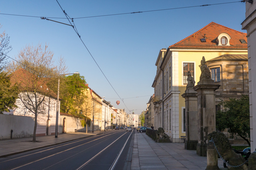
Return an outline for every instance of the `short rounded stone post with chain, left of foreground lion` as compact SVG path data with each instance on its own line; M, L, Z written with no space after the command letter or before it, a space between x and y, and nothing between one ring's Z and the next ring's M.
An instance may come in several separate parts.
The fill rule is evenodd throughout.
M218 153L211 141L207 144L207 167L206 169L219 169Z

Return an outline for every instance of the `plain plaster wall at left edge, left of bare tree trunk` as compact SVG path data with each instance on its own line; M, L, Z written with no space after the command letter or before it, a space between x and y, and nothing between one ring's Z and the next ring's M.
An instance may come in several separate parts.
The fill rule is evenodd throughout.
M0 140L12 138L32 137L35 126L35 118L29 116L16 116L0 114Z

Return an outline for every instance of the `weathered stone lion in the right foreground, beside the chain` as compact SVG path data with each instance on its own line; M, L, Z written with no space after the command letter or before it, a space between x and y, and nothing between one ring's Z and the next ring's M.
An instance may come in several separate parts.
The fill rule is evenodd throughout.
M237 154L233 151L226 135L224 135L221 132L214 131L214 132L208 134L208 142L211 140L211 138L213 139L215 146L217 147L222 158L225 159L226 161L229 161L230 165L236 166L236 165L240 165L243 162L245 162L245 159L243 158L243 156L241 154ZM233 167L228 166L228 169L248 169L248 167L246 164L244 164L243 166L240 166L239 168L233 168Z

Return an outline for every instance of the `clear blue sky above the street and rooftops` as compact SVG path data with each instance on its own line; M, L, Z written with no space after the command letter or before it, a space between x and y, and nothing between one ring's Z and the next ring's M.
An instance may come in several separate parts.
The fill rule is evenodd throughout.
M226 4L209 5L218 3ZM70 24L61 8L70 18L79 18L70 22L87 48L71 26L40 18ZM79 72L98 95L115 108L125 108L128 114L133 110L141 114L154 94L152 84L160 49L212 21L246 32L241 30L244 19L245 3L234 0L8 0L0 5L0 32L5 30L12 46L9 57L28 44L47 43L56 60L60 56L66 59L70 73Z

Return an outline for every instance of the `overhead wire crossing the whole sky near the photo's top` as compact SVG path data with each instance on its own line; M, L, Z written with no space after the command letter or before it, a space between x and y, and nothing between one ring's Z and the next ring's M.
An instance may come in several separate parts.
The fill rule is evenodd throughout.
M207 5L197 5L197 6L188 6L188 7L178 7L178 8L168 8L168 9L157 9L157 10L149 10L149 11L127 12L127 13L120 13L120 14L98 15L98 16L90 16L90 17L78 17L78 18L73 18L73 19L92 18L92 17L105 17L105 16L114 16L114 15L124 15L124 14L137 14L137 13L142 13L142 12L154 12L154 11L163 11L163 10L172 10L172 9L203 7L203 6L229 4L229 3L237 3L237 2L244 2L244 1L226 2L226 3L218 3L218 4L207 4ZM29 15L15 15L15 14L3 14L3 13L0 13L0 14L2 14L2 15L13 15L13 16L22 16L22 17L41 18L41 17L38 17L38 16L29 16ZM59 18L59 17L45 17L45 18L66 19L66 18Z

